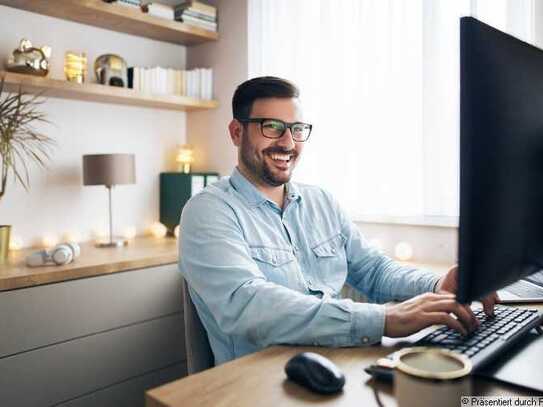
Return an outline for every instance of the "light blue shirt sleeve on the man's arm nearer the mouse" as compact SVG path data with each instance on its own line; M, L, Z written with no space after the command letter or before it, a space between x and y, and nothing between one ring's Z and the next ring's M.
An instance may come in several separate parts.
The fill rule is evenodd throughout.
M226 334L257 346L354 346L376 343L384 306L317 297L266 279L250 255L234 210L210 193L181 217L180 270Z

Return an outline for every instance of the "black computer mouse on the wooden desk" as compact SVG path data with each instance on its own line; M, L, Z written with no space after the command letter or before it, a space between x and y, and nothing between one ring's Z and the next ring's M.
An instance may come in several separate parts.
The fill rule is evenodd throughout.
M337 393L345 385L343 372L330 359L313 352L293 356L285 373L293 382L320 394Z

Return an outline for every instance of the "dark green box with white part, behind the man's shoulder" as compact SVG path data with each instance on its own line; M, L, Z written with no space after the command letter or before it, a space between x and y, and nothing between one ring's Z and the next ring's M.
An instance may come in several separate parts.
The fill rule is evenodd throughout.
M160 174L160 223L173 233L191 196L219 180L216 172L163 172Z

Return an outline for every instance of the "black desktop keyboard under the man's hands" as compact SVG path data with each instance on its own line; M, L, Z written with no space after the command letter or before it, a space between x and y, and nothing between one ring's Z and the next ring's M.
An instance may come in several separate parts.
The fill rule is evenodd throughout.
M417 341L417 346L439 346L462 353L471 359L473 370L480 369L505 349L509 348L532 328L541 324L542 315L535 309L494 307L494 318L482 309L474 309L481 322L479 328L467 336L444 326Z

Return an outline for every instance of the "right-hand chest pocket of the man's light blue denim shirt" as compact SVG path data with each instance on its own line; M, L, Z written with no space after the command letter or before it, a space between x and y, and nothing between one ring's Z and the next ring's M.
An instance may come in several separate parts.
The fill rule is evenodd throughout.
M345 238L341 233L320 240L311 247L315 261L315 272L320 283L337 294L347 279Z

